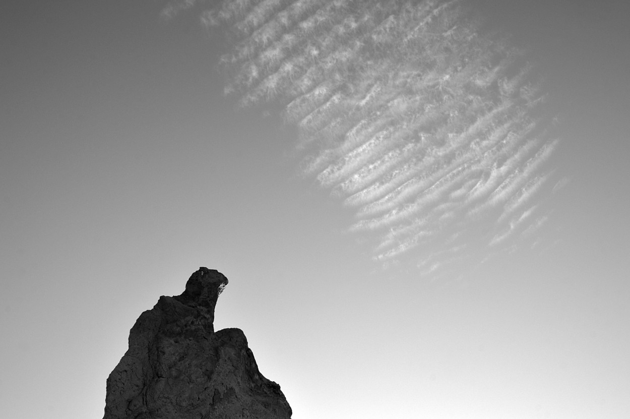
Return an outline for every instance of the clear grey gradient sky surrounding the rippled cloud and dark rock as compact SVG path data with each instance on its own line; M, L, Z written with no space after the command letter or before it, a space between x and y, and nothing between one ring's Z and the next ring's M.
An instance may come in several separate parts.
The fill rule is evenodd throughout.
M224 96L203 5L2 3L1 415L101 418L135 319L204 266L295 419L630 417L630 6L464 3L536 64L564 187L536 246L440 275L348 231L284 105Z

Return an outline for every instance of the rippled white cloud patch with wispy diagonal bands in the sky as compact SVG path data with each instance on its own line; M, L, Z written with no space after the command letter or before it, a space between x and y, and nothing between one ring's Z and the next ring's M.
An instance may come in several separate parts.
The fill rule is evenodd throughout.
M350 230L376 236L375 260L420 244L461 260L471 239L496 246L542 225L530 201L558 147L534 66L467 16L460 0L224 0L202 22L236 37L226 93L284 106L302 173L355 209ZM462 234L474 224L490 232ZM444 265L424 253L424 270Z

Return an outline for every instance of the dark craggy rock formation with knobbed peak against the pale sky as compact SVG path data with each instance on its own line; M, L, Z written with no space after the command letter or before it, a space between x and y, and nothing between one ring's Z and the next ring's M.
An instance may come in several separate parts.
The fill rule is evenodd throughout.
M199 270L175 297L140 314L129 350L107 379L103 419L278 419L291 408L263 377L240 329L215 333L227 278Z

